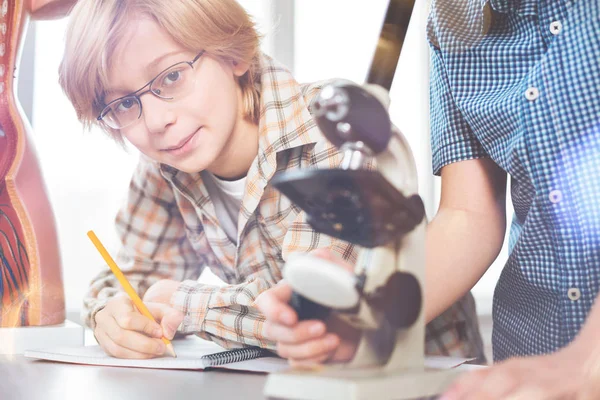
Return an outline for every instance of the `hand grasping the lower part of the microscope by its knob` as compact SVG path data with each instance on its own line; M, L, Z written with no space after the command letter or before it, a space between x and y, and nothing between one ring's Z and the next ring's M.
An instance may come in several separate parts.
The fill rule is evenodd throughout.
M328 250L312 253L352 270L352 266L337 259ZM336 318L327 321L298 321L298 315L288 304L291 287L284 281L264 291L256 306L266 317L266 335L277 342L277 353L292 366L311 367L325 361L348 361L358 345L360 332Z

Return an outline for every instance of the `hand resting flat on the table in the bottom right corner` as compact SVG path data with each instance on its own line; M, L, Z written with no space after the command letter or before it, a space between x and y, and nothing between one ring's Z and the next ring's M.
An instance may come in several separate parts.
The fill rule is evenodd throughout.
M516 358L461 376L441 400L600 398L600 365L589 349L569 346L544 356Z

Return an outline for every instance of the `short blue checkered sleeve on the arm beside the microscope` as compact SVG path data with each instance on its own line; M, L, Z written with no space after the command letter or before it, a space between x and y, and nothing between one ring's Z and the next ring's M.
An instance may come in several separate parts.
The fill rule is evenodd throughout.
M454 101L442 53L433 45L430 78L433 173L454 162L489 158Z

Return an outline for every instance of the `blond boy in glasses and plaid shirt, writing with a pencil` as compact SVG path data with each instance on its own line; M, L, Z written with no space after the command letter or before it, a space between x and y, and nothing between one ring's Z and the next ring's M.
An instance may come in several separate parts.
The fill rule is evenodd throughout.
M327 249L354 261L353 246L315 233L269 184L276 172L331 168L340 157L311 118L319 86L299 85L259 52L235 1L82 0L60 82L80 120L142 153L117 216L118 263L161 326L101 273L84 317L109 354L160 355L158 338L178 327L225 347L274 348L255 299L281 280L288 256ZM198 283L205 267L227 285ZM481 357L476 327L466 296L437 320L429 350ZM311 330L324 331L320 322Z

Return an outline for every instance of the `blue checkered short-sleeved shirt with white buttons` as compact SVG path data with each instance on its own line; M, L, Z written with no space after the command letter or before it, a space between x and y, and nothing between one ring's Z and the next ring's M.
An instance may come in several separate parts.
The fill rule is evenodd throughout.
M432 5L434 173L487 157L511 177L495 360L567 345L598 294L599 8L599 0Z

